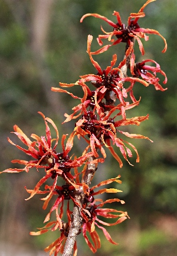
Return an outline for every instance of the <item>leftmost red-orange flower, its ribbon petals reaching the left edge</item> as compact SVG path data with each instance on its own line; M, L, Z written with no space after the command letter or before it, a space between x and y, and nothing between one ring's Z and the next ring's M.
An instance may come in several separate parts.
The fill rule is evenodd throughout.
M28 146L28 149L24 149L24 148L21 148L21 146L15 145L15 143L13 143L8 138L9 142L12 145L15 145L18 149L27 153L27 155L32 156L32 158L34 158L36 160L24 161L24 160L15 159L12 161L13 163L25 165L25 168L23 168L23 169L9 168L3 172L21 172L21 171L28 172L29 169L33 168L33 167L37 168L37 170L39 168L45 168L46 175L43 178L41 178L40 181L38 181L34 190L31 191L31 196L28 199L30 199L36 193L38 193L38 190L40 189L41 185L44 184L45 181L48 180L48 178L52 178L54 180L54 183L50 190L50 193L45 198L45 200L46 200L53 193L53 191L56 187L56 184L57 184L58 176L64 178L64 180L68 180L68 179L73 180L74 177L70 173L71 168L80 167L81 165L83 165L84 162L87 161L87 158L92 156L93 153L87 152L88 149L86 148L85 151L83 152L83 155L78 158L75 158L72 160L70 158L70 156L68 156L68 153L71 151L71 148L73 147L73 140L74 140L74 136L76 136L76 132L71 133L71 135L68 137L66 146L64 146L64 140L66 138L66 135L62 136L61 145L63 148L63 152L57 153L55 150L56 146L58 144L58 139L59 139L57 127L55 126L54 122L51 119L49 119L48 117L45 117L44 114L42 114L42 113L40 113L40 114L44 118L44 121L45 121L47 139L45 139L44 136L39 137L37 135L32 134L31 137L33 139L35 139L34 142L32 142L22 132L22 130L19 129L18 126L14 126L15 134L19 137L19 139L26 146ZM47 122L51 123L52 126L54 127L55 132L57 133L56 139L51 139L50 127L48 126ZM51 143L53 142L53 140L56 140L56 141L55 141L54 147L52 148Z

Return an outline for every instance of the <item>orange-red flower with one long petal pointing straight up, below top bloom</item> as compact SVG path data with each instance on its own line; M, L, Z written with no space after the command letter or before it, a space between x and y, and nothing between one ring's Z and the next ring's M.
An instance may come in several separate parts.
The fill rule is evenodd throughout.
M124 65L124 60L126 60L126 57L129 56L131 50L127 50L126 52L126 57L125 59L120 62L119 66L117 68L113 68L113 66L116 64L117 56L113 55L113 59L111 62L110 66L107 66L106 69L102 70L99 63L97 63L93 57L91 56L91 41L93 40L93 37L91 35L88 36L87 40L87 52L89 53L89 57L91 60L91 63L93 64L94 68L97 69L97 75L94 74L89 74L89 75L84 75L80 76L82 82L91 82L91 84L96 87L96 92L94 94L94 100L95 100L95 105L96 105L96 110L97 113L99 114L100 117L104 116L104 111L112 108L110 105L105 105L104 107L101 108L100 106L100 100L102 98L105 98L106 101L109 102L110 98L110 92L113 92L117 99L119 99L120 105L126 106L129 105L129 102L124 101L124 98L127 98L127 91L123 87L124 82L130 82L131 85L135 84L135 82L140 82L141 84L145 85L145 87L148 87L148 83L146 81L143 81L142 79L136 78L136 77L123 77L122 71L120 68ZM131 45L132 47L132 45ZM130 85L130 87L131 87ZM99 97L98 103L97 103L97 95L102 94L101 97Z

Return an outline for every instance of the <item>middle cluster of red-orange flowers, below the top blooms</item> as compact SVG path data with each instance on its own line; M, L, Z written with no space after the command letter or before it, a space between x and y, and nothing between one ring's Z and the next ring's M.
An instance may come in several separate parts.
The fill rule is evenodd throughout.
M106 69L101 69L99 63L97 63L93 57L91 56L91 41L93 37L88 36L87 41L87 52L89 53L89 57L91 63L97 70L97 74L89 74L80 76L75 84L61 84L61 87L73 87L74 85L80 85L83 88L84 96L80 98L81 103L73 108L73 114L65 114L67 117L66 121L70 121L71 119L76 119L81 116L81 119L76 122L76 127L74 131L77 136L83 137L87 143L89 143L91 151L93 155L97 158L97 161L102 161L106 158L106 153L104 147L108 148L114 158L122 167L122 160L119 155L114 151L113 145L116 145L120 152L122 153L124 159L127 159L127 156L132 157L132 152L125 145L130 146L136 152L137 159L139 162L139 155L137 153L136 148L129 142L124 141L122 138L117 137L117 132L132 138L139 139L149 139L143 135L134 135L128 132L123 132L121 130L117 130L119 126L127 126L136 124L139 125L142 121L148 119L147 116L139 116L133 117L132 119L126 118L126 111L135 107L139 104L139 101L136 101L133 97L133 93L130 94L130 97L133 100L133 103L126 101L127 91L130 91L129 88L133 88L135 82L140 82L146 87L149 85L148 82L143 79L137 78L136 76L126 76L123 77L121 67L122 62L118 67L113 68L116 64L117 56L113 55L113 59L110 66L107 66ZM130 53L127 53L129 56ZM123 60L124 62L124 60ZM91 84L96 88L94 91L91 91L89 87L86 85L86 82L91 82ZM129 88L124 88L124 82L130 82ZM61 88L51 88L52 91L55 92L67 92ZM131 89L132 92L132 89ZM73 98L78 98L77 96L69 93ZM78 113L79 112L79 113ZM119 120L116 118L119 117ZM122 119L120 119L122 117ZM99 159L99 152L101 152L102 158Z

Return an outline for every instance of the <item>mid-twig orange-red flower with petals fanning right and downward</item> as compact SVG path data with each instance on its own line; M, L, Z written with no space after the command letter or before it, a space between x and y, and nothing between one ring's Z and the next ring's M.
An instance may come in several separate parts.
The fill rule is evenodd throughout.
M99 158L98 150L100 150L101 154L103 155L103 159L101 158L99 159L100 162L103 162L104 158L106 158L106 152L104 151L104 148L103 148L103 146L106 146L106 148L110 150L110 152L112 153L114 158L117 160L117 162L119 162L120 167L123 166L122 160L117 155L117 153L114 152L114 149L111 146L111 141L113 145L115 144L120 149L120 152L122 153L124 159L126 159L126 161L128 162L129 160L127 159L127 155L129 157L132 157L132 152L130 151L129 148L127 148L125 144L132 147L137 155L136 162L139 162L139 155L137 153L135 146L133 146L132 143L129 143L123 139L120 139L116 135L116 133L119 132L131 138L149 139L148 137L143 135L130 134L128 132L122 132L121 130L116 129L116 127L127 126L130 124L139 125L142 121L148 119L149 117L148 115L142 116L142 117L133 117L132 119L126 119L126 115L124 111L126 109L135 107L137 104L139 104L139 101L136 101L136 103L130 104L124 108L114 107L112 110L110 110L109 114L107 116L104 116L101 120L97 120L97 116L92 111L87 111L87 113L83 115L82 119L77 121L76 127L74 130L77 132L79 136L83 137L87 141L87 143L90 144L91 151L93 152L96 158ZM116 114L116 116L122 114L122 116L124 116L124 119L119 121L114 121L114 118L116 116L114 116L112 119L110 118L110 115L117 109L120 110L120 113ZM86 139L86 136L89 136L89 140Z

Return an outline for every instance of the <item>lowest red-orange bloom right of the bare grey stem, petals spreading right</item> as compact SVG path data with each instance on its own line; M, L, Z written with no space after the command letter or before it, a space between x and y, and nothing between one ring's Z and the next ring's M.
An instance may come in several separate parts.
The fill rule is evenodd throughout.
M90 188L89 195L87 195L85 197L85 204L83 205L83 207L85 208L86 212L82 212L82 216L83 216L82 231L83 231L83 236L86 240L87 245L89 245L89 248L93 252L96 252L97 249L99 249L101 247L100 237L99 237L98 233L96 232L95 226L97 226L98 228L100 228L103 231L104 236L106 237L106 239L109 242L111 242L114 245L117 245L117 243L114 242L113 239L111 238L109 232L107 232L106 228L104 228L102 225L114 226L114 225L117 225L117 224L123 222L125 219L127 219L127 217L129 217L127 215L127 212L122 212L122 211L119 211L116 209L102 208L104 206L104 204L107 204L107 203L119 202L119 203L124 204L123 200L109 199L109 200L106 200L103 202L103 200L101 200L101 199L94 199L94 196L96 196L97 194L122 192L115 188L103 188L97 192L94 192L94 190L96 188L98 188L102 185L113 183L114 181L116 183L121 184L122 182L119 180L119 178L120 178L120 175L117 176L116 178L111 178L106 181L101 181L101 183ZM100 201L100 203L96 204L98 201ZM119 213L119 214L117 214L117 213ZM105 217L107 219L116 218L117 220L114 223L107 223L107 222L104 222L103 220L100 220L99 216ZM87 232L89 232L91 241L93 242L94 245L91 244L91 242L89 241Z

